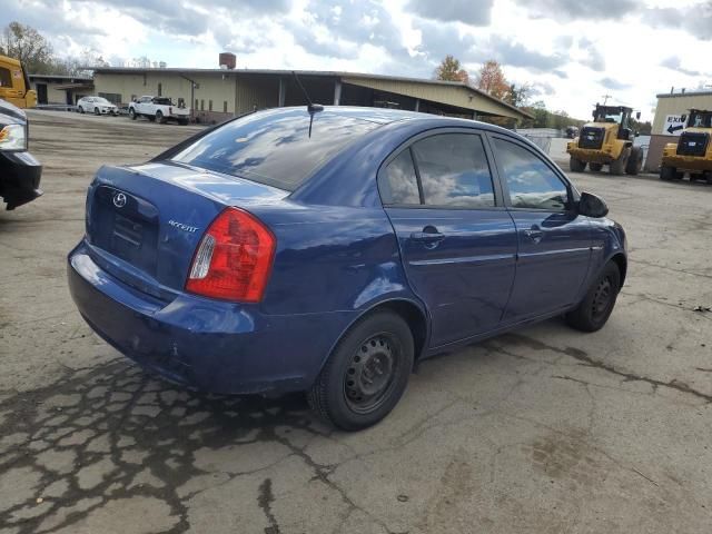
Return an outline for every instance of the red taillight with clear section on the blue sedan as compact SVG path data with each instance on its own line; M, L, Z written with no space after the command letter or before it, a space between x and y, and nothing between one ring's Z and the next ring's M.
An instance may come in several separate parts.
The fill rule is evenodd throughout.
M246 211L227 208L208 227L192 258L186 290L258 303L275 255L275 236Z

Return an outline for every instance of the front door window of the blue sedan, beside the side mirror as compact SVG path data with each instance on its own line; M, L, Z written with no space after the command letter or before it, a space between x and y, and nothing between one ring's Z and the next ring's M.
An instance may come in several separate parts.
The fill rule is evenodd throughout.
M566 185L538 156L500 138L494 138L494 146L513 208L566 209Z

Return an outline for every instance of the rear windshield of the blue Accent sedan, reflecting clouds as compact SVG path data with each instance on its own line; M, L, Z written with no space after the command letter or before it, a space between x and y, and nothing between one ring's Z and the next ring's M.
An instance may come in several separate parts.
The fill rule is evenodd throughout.
M172 160L293 191L346 145L378 126L319 111L309 135L306 108L254 113L219 127Z

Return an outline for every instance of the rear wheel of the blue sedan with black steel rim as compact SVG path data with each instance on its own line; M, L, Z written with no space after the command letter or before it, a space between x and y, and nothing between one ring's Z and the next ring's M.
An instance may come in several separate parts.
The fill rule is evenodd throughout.
M307 392L309 406L344 431L375 425L403 396L413 358L413 334L403 317L393 312L368 315L336 345Z

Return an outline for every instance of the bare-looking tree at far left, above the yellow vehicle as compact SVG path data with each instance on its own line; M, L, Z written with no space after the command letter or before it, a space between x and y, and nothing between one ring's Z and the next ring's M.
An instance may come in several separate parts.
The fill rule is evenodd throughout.
M10 22L0 38L0 52L22 61L29 72L53 73L52 47L34 28Z

